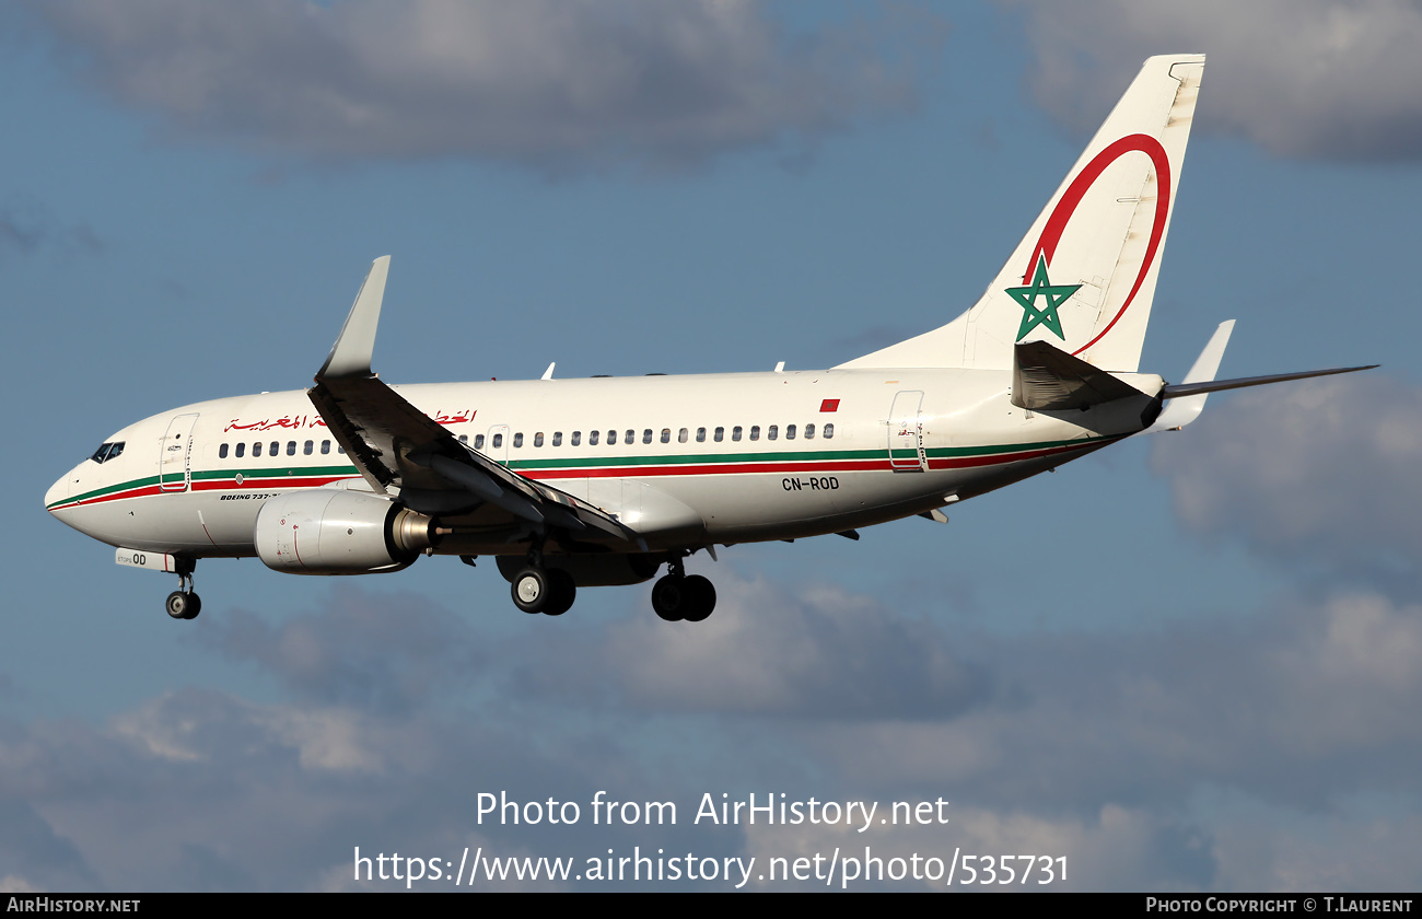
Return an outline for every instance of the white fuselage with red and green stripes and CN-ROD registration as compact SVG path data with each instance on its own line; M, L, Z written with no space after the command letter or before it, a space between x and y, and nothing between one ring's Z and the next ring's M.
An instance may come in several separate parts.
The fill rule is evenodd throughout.
M1136 380L1159 388L1159 377ZM826 370L395 388L471 447L617 515L656 549L921 514L1143 427L1142 405L1024 411L1008 381L984 370ZM111 441L122 452L77 465L46 506L115 546L255 555L267 498L365 488L300 390L185 405ZM523 549L456 539L439 551Z

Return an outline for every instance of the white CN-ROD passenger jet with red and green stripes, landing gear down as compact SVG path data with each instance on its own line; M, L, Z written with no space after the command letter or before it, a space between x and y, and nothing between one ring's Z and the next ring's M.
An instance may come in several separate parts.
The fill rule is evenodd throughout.
M292 575L493 556L526 613L579 588L651 590L704 620L684 559L943 508L1128 437L1190 424L1210 393L1351 373L1216 380L1221 323L1182 383L1139 373L1204 55L1145 61L981 299L828 370L390 386L371 370L375 259L310 390L183 405L112 434L46 494L119 565L178 575L257 556Z

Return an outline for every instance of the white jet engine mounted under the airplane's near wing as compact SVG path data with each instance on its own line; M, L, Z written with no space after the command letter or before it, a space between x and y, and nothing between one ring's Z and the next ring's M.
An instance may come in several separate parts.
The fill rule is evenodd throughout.
M253 536L272 570L365 575L407 568L431 546L432 525L380 495L313 488L269 498Z

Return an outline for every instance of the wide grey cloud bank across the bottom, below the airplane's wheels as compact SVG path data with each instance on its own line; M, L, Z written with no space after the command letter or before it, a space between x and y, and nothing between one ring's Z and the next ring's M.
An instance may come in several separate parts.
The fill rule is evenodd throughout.
M17 882L65 889L340 889L356 845L1038 854L1065 856L1071 886L1089 889L1297 889L1310 872L1338 888L1422 882L1388 848L1422 827L1422 607L1359 592L1133 636L960 632L983 674L963 694L936 626L839 589L718 582L725 607L700 629L644 613L560 620L498 639L474 676L358 613L428 603L392 613L388 596L343 586L330 609L239 643L283 680L286 634L347 659L297 667L294 701L188 690L107 726L0 724L0 859ZM441 622L411 625L458 646ZM428 683L400 706L351 694L347 673L374 647L391 659L377 681L429 659ZM917 690L936 680L948 689L926 701ZM680 821L593 825L599 790L674 801ZM880 817L944 798L950 822L694 825L701 795L722 791L872 800ZM574 801L583 819L481 824L479 792Z

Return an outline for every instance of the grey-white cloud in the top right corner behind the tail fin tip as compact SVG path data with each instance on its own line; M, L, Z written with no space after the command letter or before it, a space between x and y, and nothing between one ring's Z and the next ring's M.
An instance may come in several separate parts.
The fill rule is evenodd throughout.
M1203 51L1202 128L1295 156L1422 156L1422 7L1409 0L1037 3L1027 21L1037 95L1081 131L1146 57Z

